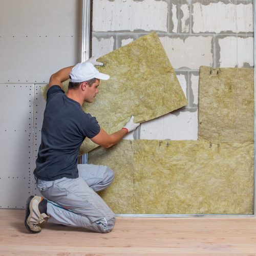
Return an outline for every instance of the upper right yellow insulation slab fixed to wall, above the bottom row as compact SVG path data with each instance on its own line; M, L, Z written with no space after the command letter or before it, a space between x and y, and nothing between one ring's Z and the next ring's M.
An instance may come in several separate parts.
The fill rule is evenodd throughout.
M199 138L254 140L254 69L200 67Z

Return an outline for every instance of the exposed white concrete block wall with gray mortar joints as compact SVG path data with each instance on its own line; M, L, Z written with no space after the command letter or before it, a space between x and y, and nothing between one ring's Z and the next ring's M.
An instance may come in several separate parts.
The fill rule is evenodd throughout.
M254 66L252 0L93 0L93 55L152 31L158 33L188 105L143 123L133 137L197 140L200 66Z

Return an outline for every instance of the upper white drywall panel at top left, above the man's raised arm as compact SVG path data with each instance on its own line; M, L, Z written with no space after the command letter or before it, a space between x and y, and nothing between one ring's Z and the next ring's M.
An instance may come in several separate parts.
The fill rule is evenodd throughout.
M82 0L0 4L0 83L44 83L81 60Z

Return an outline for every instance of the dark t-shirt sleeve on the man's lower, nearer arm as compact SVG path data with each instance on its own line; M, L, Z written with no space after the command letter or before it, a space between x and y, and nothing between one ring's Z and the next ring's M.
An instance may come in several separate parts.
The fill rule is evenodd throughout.
M95 117L92 117L90 114L84 113L84 118L82 120L82 133L83 136L93 138L100 131L100 126Z

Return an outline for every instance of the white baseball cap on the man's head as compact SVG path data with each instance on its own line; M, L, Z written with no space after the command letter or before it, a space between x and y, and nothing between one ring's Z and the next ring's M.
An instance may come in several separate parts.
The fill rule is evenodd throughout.
M108 80L110 76L100 73L91 62L78 63L70 72L71 82L84 82L93 78Z

